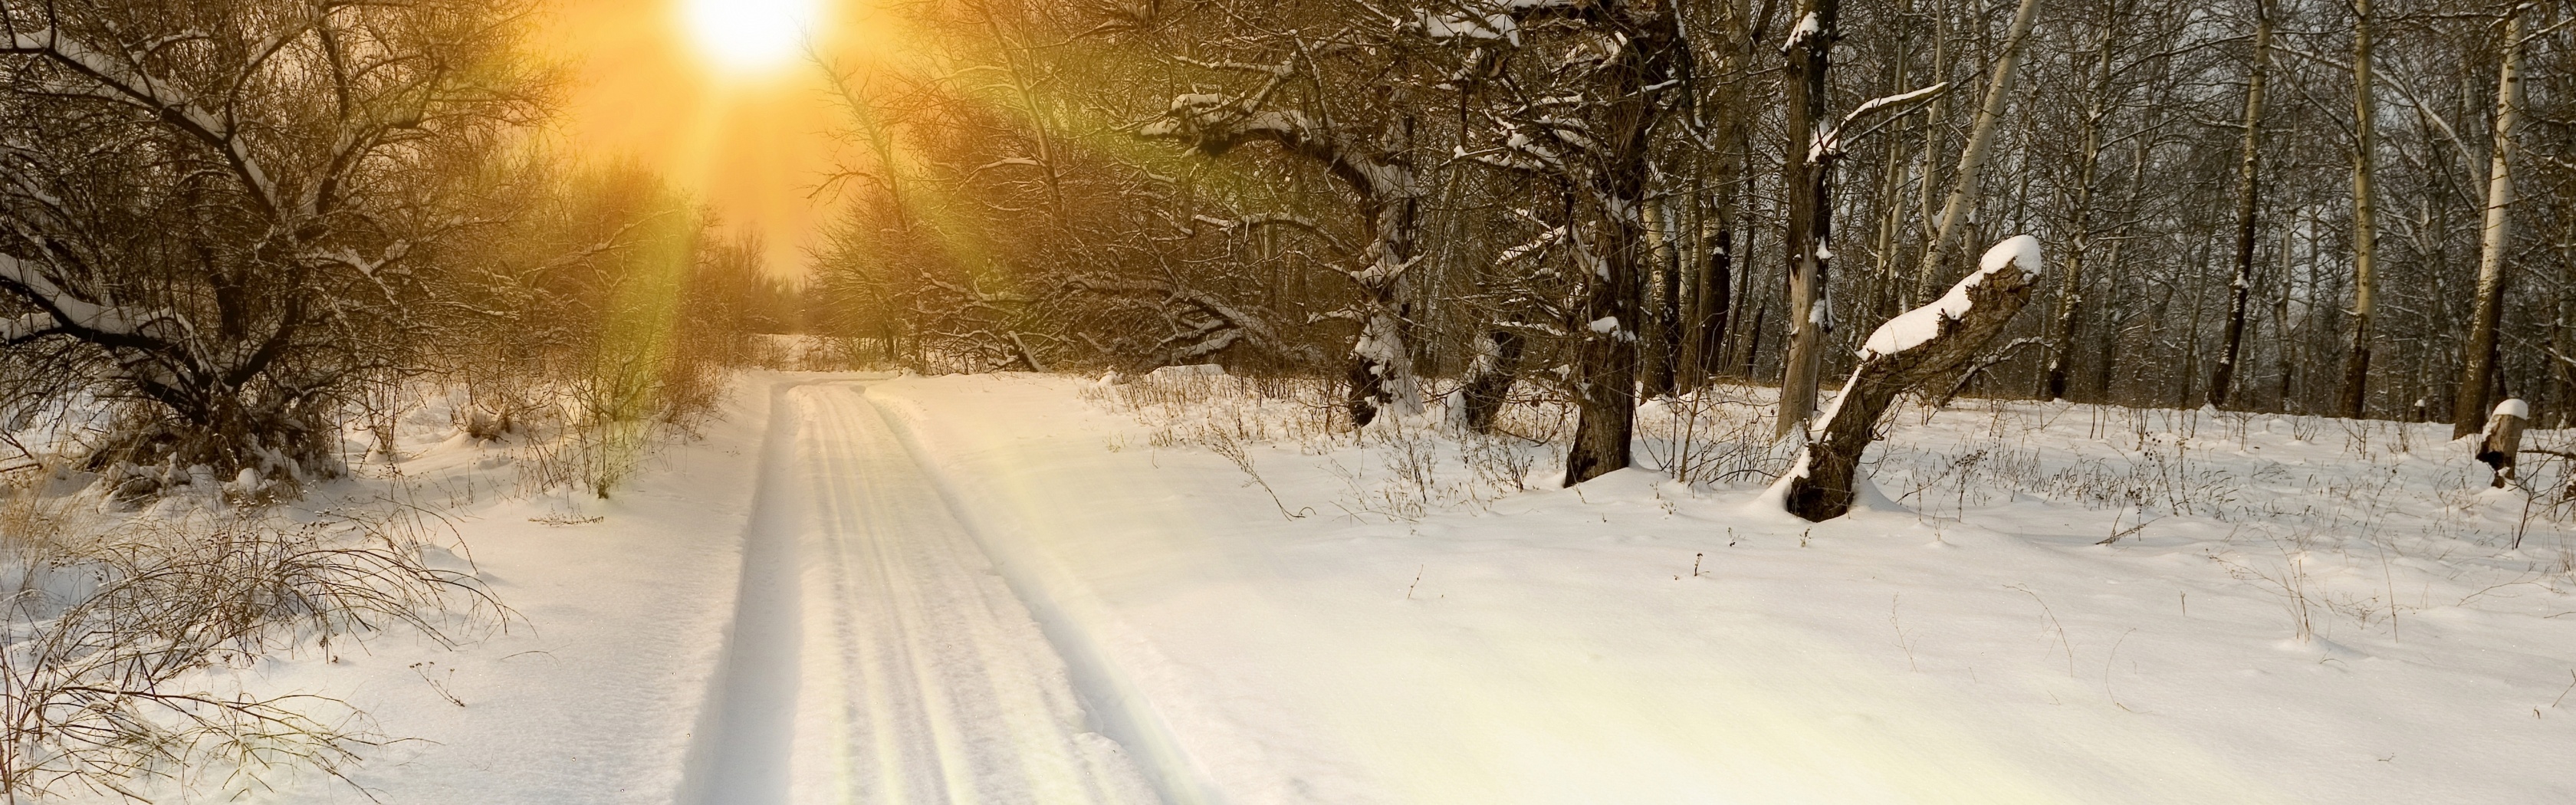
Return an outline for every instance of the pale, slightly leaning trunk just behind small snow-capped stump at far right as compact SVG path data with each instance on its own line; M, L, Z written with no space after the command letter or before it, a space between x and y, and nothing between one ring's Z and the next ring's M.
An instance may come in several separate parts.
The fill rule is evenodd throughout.
M2486 230L2478 243L2478 312L2468 323L2468 353L2460 356L2460 397L2452 405L2450 436L2470 436L2486 426L2486 395L2496 382L2496 325L2504 317L2504 248L2512 245L2504 209L2514 204L2514 119L2522 111L2522 13L2506 10L2504 67L2496 70L2496 144L2486 168Z

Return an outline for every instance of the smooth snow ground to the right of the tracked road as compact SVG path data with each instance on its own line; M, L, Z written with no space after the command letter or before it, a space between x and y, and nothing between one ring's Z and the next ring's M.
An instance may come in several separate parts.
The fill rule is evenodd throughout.
M2246 516L2342 511L2269 532L2213 508L1968 488L1965 508L1950 490L1906 490L1937 516L1873 493L1852 519L1803 524L1747 508L1759 488L1625 470L1401 519L1363 501L1396 482L1376 467L1401 459L1404 436L1255 444L1273 506L1226 459L1149 452L1157 426L1084 410L1077 392L976 377L871 397L1023 599L1084 632L1229 802L2576 795L2527 761L2576 740L2550 707L2576 645L2576 624L2550 614L2576 599L2566 575L2478 596L2532 575L2478 542L2509 532L2519 501L2455 503L2434 529L2432 501L2476 467L2465 457L2344 459L2264 433L2287 418L2254 421L2241 444L2215 444L2208 423L2187 446L2107 449L2076 408L2030 405L1996 415L2040 431L2027 441L1986 439L1996 418L1981 413L1945 415L1901 428L1909 452L1883 464L1929 462L1899 475L1904 490L1976 449L2040 452L2020 470L2032 485L2117 462L2241 482L2228 511ZM2182 415L2154 428L2179 433ZM2398 480L2383 498L2334 493L2385 467ZM2092 544L2141 516L2148 529ZM2308 583L2318 632L2298 640L2285 593L2259 575ZM2396 622L2352 614L2391 591Z

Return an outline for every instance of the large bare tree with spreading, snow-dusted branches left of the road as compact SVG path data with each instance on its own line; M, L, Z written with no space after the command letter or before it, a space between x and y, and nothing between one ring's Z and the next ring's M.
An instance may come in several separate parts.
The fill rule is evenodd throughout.
M404 364L435 191L531 111L479 0L8 3L0 320L137 400L93 462L332 472L332 415Z

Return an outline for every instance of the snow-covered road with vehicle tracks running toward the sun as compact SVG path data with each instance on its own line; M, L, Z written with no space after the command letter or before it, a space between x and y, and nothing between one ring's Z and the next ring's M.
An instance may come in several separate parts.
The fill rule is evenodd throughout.
M685 802L1154 802L863 387L773 395Z

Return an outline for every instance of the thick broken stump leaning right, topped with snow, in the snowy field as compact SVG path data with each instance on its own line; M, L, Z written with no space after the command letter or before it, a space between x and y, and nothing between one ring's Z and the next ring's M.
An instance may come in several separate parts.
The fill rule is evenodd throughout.
M1860 346L1852 379L1808 431L1798 464L1780 477L1783 508L1806 521L1852 511L1860 452L1878 439L1878 421L1896 395L1945 377L1976 356L2012 323L2012 315L2022 312L2038 276L2040 240L2007 237L1986 250L1978 271L1950 286L1950 294L1878 325Z

